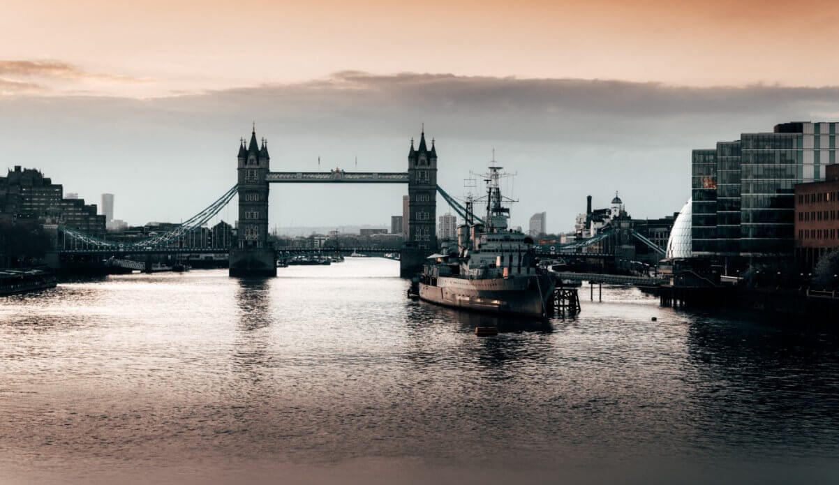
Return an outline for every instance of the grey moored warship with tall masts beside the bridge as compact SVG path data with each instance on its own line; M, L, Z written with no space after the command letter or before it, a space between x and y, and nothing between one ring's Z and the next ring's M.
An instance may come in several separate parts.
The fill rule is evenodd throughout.
M501 169L493 157L484 175L486 196L466 201L456 246L444 243L429 256L417 293L439 305L542 318L549 314L555 279L539 268L533 238L508 228L513 200L501 195ZM487 203L484 220L472 211L477 201Z

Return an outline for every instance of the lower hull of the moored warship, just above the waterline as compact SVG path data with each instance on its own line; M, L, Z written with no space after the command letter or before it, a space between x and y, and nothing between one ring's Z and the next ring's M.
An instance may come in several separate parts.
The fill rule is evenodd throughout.
M538 283L537 283L538 281ZM440 278L420 283L420 299L466 310L542 318L554 290L545 276L516 279Z

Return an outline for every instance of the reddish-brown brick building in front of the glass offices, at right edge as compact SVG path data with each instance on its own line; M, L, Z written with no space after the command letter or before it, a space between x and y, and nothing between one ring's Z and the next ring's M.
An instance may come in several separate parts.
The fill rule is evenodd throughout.
M795 258L812 268L839 249L839 164L825 167L825 180L795 185Z

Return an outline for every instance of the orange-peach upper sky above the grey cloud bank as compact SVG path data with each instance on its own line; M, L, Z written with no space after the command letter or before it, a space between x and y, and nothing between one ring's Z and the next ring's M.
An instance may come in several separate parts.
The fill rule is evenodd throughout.
M0 60L41 64L0 65L0 92L166 96L341 70L827 86L837 25L826 0L14 2Z

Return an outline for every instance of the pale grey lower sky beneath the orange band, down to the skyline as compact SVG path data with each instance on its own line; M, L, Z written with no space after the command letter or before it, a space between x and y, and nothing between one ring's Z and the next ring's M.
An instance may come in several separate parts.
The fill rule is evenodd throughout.
M690 196L691 149L772 131L776 123L839 121L836 86L698 88L343 71L309 82L142 100L48 94L0 99L7 163L32 160L75 191L118 193L130 201L121 218L136 223L177 220L170 207L190 216L227 190L237 140L249 135L252 120L258 137L270 141L274 169L313 170L319 156L325 166L354 167L357 156L359 169L401 169L409 138L425 122L426 136L437 141L441 186L457 193L495 148L504 166L519 172L515 186L526 190L515 223L547 210L551 230L571 227L586 195L601 203L614 190L633 216L678 211ZM149 197L150 185L165 196ZM282 198L287 190L294 193L272 189L278 208L294 204ZM317 225L387 221L401 210L365 206L369 213L360 219L345 197L318 192L316 204L273 210L272 224L292 217ZM331 207L328 216L323 206Z

